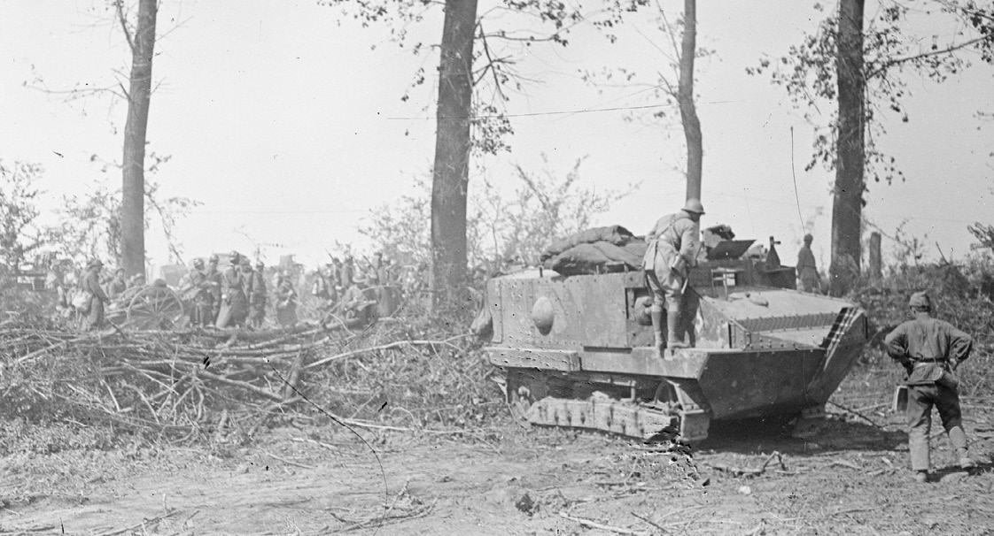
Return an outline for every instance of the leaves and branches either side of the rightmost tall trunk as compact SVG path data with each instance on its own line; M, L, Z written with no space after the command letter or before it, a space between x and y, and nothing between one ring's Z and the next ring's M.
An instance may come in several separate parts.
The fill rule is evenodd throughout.
M824 11L820 4L815 7ZM984 61L990 62L994 43L992 13L994 6L980 8L972 1L885 0L868 21L862 72L866 83L866 164L875 182L904 180L896 159L883 153L878 142L887 134L889 116L903 122L911 120L905 105L911 95L911 82L922 77L942 82L968 67L970 62L959 54L961 51L979 52ZM943 36L919 35L913 28L923 16L948 18L955 31ZM813 152L805 168L808 171L819 165L834 170L836 165L838 116L827 103L839 96L835 57L838 17L838 13L829 14L787 54L779 58L764 56L758 66L745 69L749 74L768 75L774 84L783 87L793 105L815 126ZM969 24L956 24L964 21Z

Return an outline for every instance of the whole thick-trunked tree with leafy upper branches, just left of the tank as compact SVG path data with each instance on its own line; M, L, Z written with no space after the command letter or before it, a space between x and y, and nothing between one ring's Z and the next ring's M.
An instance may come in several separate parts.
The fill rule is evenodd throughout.
M407 25L425 18L435 6L444 7L438 68L437 131L431 199L431 278L433 300L442 309L461 308L466 276L466 205L472 153L509 150L504 136L513 132L503 112L505 85L522 89L518 60L538 43L567 45L566 35L581 23L605 33L648 0L606 0L598 9L561 0L498 0L477 16L477 0L319 0L325 5L356 10L363 25L391 27L400 46L407 45ZM486 19L486 21L485 21ZM490 28L492 21L496 29ZM536 24L536 21L539 21ZM487 22L488 31L483 31ZM516 26L517 24L517 26ZM476 47L474 47L474 42ZM503 47L497 48L500 42ZM414 44L414 54L434 50ZM527 51L527 52L526 52ZM418 70L414 84L423 83ZM486 89L481 89L482 87ZM489 96L484 96L489 93ZM407 100L409 95L404 95Z

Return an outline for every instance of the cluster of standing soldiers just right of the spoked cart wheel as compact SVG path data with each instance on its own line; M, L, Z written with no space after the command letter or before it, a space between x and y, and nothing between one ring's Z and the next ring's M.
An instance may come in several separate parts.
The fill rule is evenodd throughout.
M265 265L256 261L254 268L247 256L238 251L229 254L229 265L218 269L220 258L211 255L193 261L193 269L183 285L183 295L190 304L192 326L217 328L248 327L259 329L265 321L268 289ZM280 326L297 323L297 293L285 273L277 272L274 281L276 322Z

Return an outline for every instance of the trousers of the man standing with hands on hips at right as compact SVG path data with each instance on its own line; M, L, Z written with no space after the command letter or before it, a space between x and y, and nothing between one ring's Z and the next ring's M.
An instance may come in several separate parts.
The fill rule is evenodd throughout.
M959 410L959 393L944 385L908 386L908 447L911 450L911 469L931 469L928 435L931 430L932 406L938 410L942 428L949 435L949 442L960 457L966 456L966 433Z

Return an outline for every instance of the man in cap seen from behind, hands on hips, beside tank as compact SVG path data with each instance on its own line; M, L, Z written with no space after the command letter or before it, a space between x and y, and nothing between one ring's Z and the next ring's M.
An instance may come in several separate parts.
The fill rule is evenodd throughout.
M931 317L931 300L923 292L911 295L913 320L898 326L884 342L887 352L908 370L908 446L911 469L918 482L928 481L928 433L931 409L938 409L942 427L959 457L959 467L973 469L959 409L959 380L953 372L973 349L973 338L947 322Z

